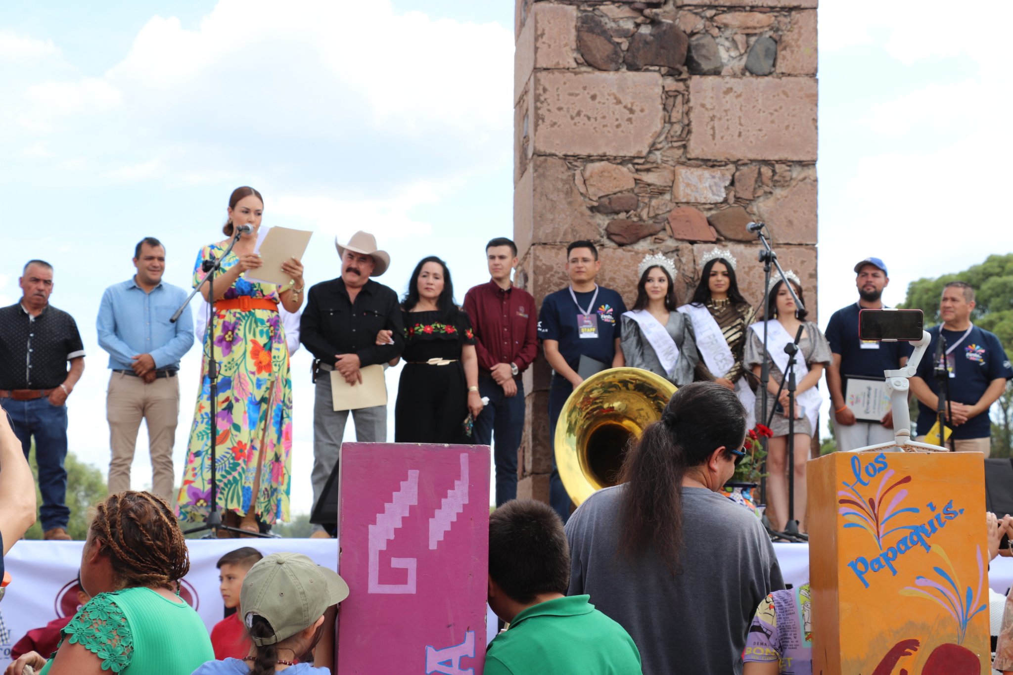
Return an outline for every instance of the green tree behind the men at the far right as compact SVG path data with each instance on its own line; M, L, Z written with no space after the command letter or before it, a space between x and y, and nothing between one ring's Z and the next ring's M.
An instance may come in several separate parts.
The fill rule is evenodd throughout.
M1013 351L1013 253L990 255L985 262L962 272L922 278L908 286L908 297L900 307L925 313L925 325L939 323L939 297L949 281L965 281L975 288L976 307L970 315L975 325L995 333L1007 355ZM990 411L992 456L1011 456L1013 450L1013 389L1006 392Z

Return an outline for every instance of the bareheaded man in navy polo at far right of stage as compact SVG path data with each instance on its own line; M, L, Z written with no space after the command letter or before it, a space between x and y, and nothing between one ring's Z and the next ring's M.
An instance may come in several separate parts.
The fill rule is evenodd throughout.
M911 378L911 391L918 397L918 440L936 421L940 383L933 376L936 349L942 335L942 358L949 373L949 400L953 418L953 445L957 452L978 451L989 456L992 450L992 421L989 408L1006 390L1013 368L1003 345L994 333L970 323L975 289L963 281L943 286L939 300L941 326L929 329L932 342Z

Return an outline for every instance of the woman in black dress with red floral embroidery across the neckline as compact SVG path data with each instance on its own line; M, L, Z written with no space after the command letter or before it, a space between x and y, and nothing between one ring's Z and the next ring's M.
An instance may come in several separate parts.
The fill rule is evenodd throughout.
M471 321L454 304L443 260L430 256L415 266L401 309L405 365L394 406L394 441L470 443L465 420L482 411L478 355Z

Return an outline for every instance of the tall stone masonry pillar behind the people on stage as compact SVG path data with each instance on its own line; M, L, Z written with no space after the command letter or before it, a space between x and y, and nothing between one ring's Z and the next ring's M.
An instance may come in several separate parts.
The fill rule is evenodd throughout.
M738 259L759 303L751 221L779 259L816 285L816 0L516 0L514 236L519 285L567 283L566 245L601 248L599 282L636 293L650 252L695 287L716 246ZM551 369L525 373L519 497L548 501Z

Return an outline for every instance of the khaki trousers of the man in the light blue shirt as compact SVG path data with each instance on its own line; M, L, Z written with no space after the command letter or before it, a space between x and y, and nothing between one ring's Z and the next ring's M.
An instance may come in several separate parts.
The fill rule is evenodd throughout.
M151 451L151 492L175 503L172 489L172 446L179 419L179 378L159 377L150 385L141 377L113 372L105 398L105 419L109 422L109 494L130 490L130 469L141 420L148 423Z

